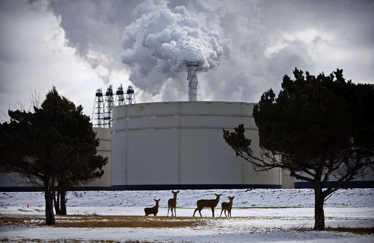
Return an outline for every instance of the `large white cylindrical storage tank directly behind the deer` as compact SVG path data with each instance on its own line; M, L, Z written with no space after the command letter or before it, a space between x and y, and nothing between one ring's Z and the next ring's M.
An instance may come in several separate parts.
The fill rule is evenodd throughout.
M115 106L111 190L282 188L279 169L256 174L222 128L243 123L259 153L254 103L157 102Z

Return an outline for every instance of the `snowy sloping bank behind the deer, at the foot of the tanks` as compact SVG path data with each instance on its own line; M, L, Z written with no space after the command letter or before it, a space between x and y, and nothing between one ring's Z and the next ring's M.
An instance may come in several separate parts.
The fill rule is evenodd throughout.
M220 202L228 202L227 196L235 196L234 207L292 207L314 206L313 189L223 189L180 190L178 207L194 207L198 199L214 199L221 194ZM373 207L374 189L340 189L325 202L325 206ZM168 206L173 197L169 190L159 191L86 191L83 197L68 194L70 207L136 207L154 205L153 199L161 199L160 207ZM43 192L0 192L0 206L44 207ZM219 204L218 206L220 206Z

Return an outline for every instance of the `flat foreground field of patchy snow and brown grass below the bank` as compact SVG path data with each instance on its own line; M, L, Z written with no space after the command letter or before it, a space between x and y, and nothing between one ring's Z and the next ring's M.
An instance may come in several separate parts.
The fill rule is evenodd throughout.
M143 216L143 208L68 208L46 226L42 208L0 207L3 242L374 242L374 208L325 209L326 231L313 231L314 209L233 208L233 217L188 216L193 208L177 208L178 217ZM7 214L6 212L9 212ZM15 213L18 212L18 213ZM84 213L82 213L84 212ZM121 214L122 212L122 214ZM124 214L137 215L124 215ZM110 215L108 215L110 214ZM116 214L116 215L113 215ZM218 214L218 215L217 215Z

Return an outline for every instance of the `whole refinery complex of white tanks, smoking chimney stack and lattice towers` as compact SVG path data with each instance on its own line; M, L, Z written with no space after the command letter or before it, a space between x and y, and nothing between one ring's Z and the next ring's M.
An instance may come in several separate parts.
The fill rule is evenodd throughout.
M134 87L113 92L98 88L91 121L108 156L101 179L86 190L177 190L307 188L304 181L274 168L255 172L251 163L235 156L222 129L244 124L254 155L260 155L258 129L252 116L255 103L197 101L199 62L186 61L187 101L136 103ZM14 175L8 175L12 177ZM370 187L373 173L347 187ZM35 190L0 177L0 190Z

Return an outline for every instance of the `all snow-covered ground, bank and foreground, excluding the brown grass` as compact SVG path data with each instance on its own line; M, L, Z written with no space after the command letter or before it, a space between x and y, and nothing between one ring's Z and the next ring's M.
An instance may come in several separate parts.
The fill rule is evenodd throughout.
M309 189L253 190L180 190L177 215L192 216L196 200L214 199L223 193L221 202L235 196L232 218L206 218L206 224L178 228L56 228L0 227L0 240L42 239L46 242L374 242L373 235L331 231L295 231L294 228L314 224L314 195ZM374 189L341 189L325 204L325 224L331 227L374 227ZM69 215L144 215L144 207L160 200L157 216L166 216L171 191L87 191L83 197L68 196ZM0 217L6 215L44 215L44 195L33 193L0 193ZM27 204L30 208L27 208ZM262 208L263 207L263 208ZM169 214L170 215L170 214ZM211 216L210 209L202 215ZM56 215L56 220L61 216ZM148 216L153 218L154 216Z

